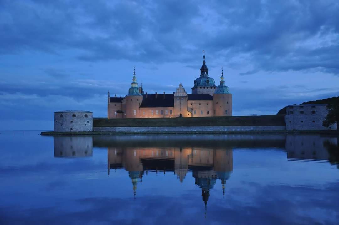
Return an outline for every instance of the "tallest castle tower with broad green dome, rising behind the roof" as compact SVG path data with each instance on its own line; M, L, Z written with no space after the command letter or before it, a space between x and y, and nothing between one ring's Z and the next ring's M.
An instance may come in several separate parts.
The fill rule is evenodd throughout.
M192 94L214 94L216 90L216 85L214 79L208 76L208 67L205 62L205 51L202 61L202 66L200 68L200 77L194 79L194 86L192 87Z

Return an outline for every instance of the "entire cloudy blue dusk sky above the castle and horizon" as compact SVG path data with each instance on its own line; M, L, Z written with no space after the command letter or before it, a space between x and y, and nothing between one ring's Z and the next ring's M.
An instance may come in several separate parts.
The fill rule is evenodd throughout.
M191 93L203 50L233 115L339 96L337 0L0 0L0 130L53 129L53 112L107 116L107 91Z

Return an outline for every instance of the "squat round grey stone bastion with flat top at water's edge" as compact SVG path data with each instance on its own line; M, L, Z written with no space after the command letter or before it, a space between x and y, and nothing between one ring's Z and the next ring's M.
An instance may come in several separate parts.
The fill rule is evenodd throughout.
M54 112L55 132L93 131L93 112L57 111Z

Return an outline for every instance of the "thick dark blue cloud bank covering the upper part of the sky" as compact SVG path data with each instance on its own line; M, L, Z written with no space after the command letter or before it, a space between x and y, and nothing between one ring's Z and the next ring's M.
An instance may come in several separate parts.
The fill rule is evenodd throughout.
M339 3L326 1L2 1L0 53L61 54L87 61L192 62L247 54L257 71L339 74ZM195 60L193 60L195 61ZM232 63L230 63L232 65Z

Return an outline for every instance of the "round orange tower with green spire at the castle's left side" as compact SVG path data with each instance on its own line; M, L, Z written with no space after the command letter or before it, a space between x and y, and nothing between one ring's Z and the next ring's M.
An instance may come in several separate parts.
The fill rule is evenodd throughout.
M142 95L138 87L137 78L135 77L135 67L133 72L133 82L128 89L128 95L126 96L126 118L140 118L140 104L142 102Z

